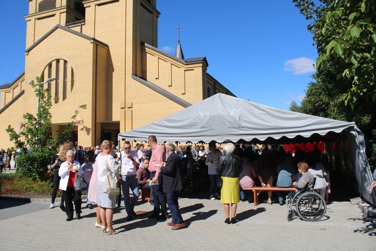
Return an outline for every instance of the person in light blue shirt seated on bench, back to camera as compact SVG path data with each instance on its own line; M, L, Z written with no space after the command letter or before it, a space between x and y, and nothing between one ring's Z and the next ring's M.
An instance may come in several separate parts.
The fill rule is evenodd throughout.
M291 153L287 153L285 160L286 162L278 164L277 166L277 187L279 188L292 187L292 182L296 173L296 168L292 165L293 160ZM278 191L277 194L279 204L282 206L284 203L283 197L286 197L286 192Z

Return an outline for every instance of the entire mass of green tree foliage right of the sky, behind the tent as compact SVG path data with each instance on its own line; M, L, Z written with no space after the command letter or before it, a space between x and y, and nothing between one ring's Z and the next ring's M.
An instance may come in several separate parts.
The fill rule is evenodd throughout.
M376 1L293 0L312 22L317 48L315 82L308 84L301 112L354 121L376 167ZM296 109L297 107L293 107ZM290 107L291 109L291 107Z

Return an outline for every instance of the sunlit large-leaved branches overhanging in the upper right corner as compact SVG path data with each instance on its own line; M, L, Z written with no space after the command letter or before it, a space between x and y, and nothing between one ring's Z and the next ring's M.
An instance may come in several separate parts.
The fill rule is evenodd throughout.
M376 102L376 2L374 0L293 0L307 20L319 57L318 73L337 71L335 89L351 109Z

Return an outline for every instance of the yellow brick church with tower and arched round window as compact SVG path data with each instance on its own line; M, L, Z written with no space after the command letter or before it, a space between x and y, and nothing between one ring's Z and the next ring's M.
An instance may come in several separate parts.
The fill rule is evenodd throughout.
M1 147L12 147L5 129L18 129L36 112L26 82L40 77L51 90L52 134L79 115L85 128L72 141L95 146L216 93L234 95L207 73L205 57L174 56L157 49L156 0L27 0L25 72L0 86ZM26 82L24 82L26 81ZM173 109L166 109L173 107ZM145 139L146 140L146 139Z

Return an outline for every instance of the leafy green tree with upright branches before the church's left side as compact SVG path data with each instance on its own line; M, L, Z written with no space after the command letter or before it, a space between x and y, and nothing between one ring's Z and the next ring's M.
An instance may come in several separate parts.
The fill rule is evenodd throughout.
M64 131L57 131L57 137L52 138L51 92L47 88L42 88L41 80L38 77L37 83L34 83L33 80L31 85L39 100L37 114L26 113L23 115L25 129L21 132L17 133L11 126L8 126L6 131L16 148L20 149L17 157L15 156L19 171L34 180L44 180L52 156L57 152L59 145L71 136L71 131L75 130L75 126L73 121L70 122ZM80 109L86 109L86 105L79 106L72 118L78 114ZM29 151L28 146L30 146Z

